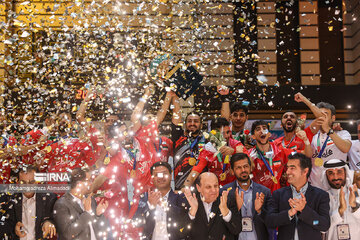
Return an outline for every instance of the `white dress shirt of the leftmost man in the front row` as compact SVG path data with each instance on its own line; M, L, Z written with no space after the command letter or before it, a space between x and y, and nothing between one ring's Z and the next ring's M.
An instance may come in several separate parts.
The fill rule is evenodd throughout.
M23 229L26 232L26 236L21 238L21 240L34 240L36 222L36 194L34 194L32 198L27 198L23 194L21 222L24 224Z

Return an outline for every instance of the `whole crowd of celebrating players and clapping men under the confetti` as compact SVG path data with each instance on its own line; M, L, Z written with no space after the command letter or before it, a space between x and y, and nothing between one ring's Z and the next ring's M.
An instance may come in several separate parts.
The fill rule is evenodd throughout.
M270 141L266 121L245 129L246 104L229 102L223 86L221 116L212 119L209 131L200 113L182 120L172 91L156 115L145 114L151 88L130 124L109 113L96 125L87 116L94 89L76 119L49 114L42 128L20 138L7 131L3 117L1 184L57 184L37 182L35 175L70 175L66 192L2 192L3 239L360 237L360 143L335 124L333 105L313 104L297 93L294 101L315 119L305 126L287 111L284 135ZM168 112L166 137L158 126Z

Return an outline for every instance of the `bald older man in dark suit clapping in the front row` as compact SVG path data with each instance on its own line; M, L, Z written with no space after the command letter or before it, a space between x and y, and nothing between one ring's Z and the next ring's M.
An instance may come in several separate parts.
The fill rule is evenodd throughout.
M235 239L241 232L241 215L236 206L227 205L229 190L219 197L219 182L214 173L200 174L196 184L198 194L185 190L189 202L191 239Z

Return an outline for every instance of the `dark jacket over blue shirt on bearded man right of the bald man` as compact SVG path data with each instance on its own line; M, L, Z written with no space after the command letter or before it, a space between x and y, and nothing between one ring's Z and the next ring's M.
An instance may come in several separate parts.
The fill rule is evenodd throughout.
M228 202L229 205L235 205L236 206L236 199L235 199L235 191L237 188L236 181L233 181L232 183L229 183L222 187L221 192L227 190L231 187L231 190L229 191L228 195ZM253 217L253 226L256 231L256 236L258 239L271 239L271 236L269 235L268 228L265 225L265 216L269 210L269 204L271 199L271 191L267 187L264 187L263 185L260 185L256 182L252 182L253 184L253 192L252 192L252 217ZM254 202L256 198L256 193L263 193L265 194L265 201L261 208L261 214L257 214L254 207ZM220 193L221 195L221 193ZM239 211L239 214L241 215L241 211ZM236 238L238 239L238 237Z

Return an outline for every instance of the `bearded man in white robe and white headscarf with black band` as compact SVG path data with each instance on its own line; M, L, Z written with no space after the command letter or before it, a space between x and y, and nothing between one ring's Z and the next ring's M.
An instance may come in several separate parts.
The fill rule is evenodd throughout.
M353 171L339 159L324 163L323 185L330 195L331 225L328 240L359 239L360 210L356 201L357 186L352 185Z

